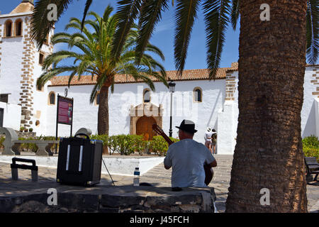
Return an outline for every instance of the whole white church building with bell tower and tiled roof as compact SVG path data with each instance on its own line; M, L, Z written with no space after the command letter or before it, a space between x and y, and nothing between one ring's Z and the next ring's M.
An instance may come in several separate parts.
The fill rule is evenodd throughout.
M51 79L42 90L35 86L45 56L53 52L50 38L39 51L30 38L33 1L23 0L9 14L0 14L0 127L33 128L37 135L55 135L57 95L74 99L73 132L90 128L97 133L99 96L94 104L89 97L95 78L73 79L67 75ZM208 70L185 70L183 77L168 71L176 84L173 94L173 137L177 137L183 119L196 123L194 139L204 143L207 127L218 132L218 154L232 154L237 137L238 71L237 63L220 68L216 80L208 79ZM301 135L319 136L319 66L308 65L305 72ZM109 134L144 134L152 138L152 124L169 133L171 93L155 81L155 92L147 84L118 75L109 95ZM58 135L69 136L70 126L59 125Z

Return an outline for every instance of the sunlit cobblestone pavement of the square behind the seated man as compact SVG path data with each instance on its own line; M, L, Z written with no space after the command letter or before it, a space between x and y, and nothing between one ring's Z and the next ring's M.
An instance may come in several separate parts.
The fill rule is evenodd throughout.
M228 196L228 187L230 183L230 171L233 162L233 155L215 155L218 167L214 168L213 181L209 185L215 189L217 196L216 207L218 212L225 211L225 201ZM18 170L19 181L31 180L30 170ZM163 164L157 165L145 175L140 177L140 182L147 182L155 187L171 187L171 170L165 170ZM112 175L116 186L132 185L133 177ZM101 175L101 184L113 184L109 175ZM55 182L56 169L39 167L39 182ZM5 183L5 184L1 184ZM7 184L6 184L7 183ZM10 184L10 189L8 187ZM32 182L30 182L32 187ZM0 196L13 194L15 192L28 192L28 188L21 189L19 184L13 184L11 180L11 169L7 163L0 162ZM319 186L307 185L308 211L319 211Z

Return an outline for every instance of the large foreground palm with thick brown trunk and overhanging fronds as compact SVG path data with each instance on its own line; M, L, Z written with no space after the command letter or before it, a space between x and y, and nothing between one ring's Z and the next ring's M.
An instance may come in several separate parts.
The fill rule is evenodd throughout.
M174 56L184 70L187 48L200 6L206 23L207 63L215 77L231 22L240 18L239 119L226 211L307 211L306 179L301 145L303 77L307 59L319 50L318 0L269 0L270 21L260 20L264 0L177 0ZM112 55L139 20L139 62L169 0L118 1L118 26ZM86 5L89 6L89 5ZM268 188L270 205L260 204Z

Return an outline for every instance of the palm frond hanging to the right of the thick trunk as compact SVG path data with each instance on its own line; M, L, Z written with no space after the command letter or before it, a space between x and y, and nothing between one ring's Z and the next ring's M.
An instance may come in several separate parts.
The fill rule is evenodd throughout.
M315 65L319 55L319 2L308 0L307 4L307 61Z

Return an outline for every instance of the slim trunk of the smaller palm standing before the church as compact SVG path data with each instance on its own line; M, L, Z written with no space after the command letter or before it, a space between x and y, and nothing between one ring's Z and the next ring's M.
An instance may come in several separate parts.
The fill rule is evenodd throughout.
M103 86L100 90L98 114L99 135L108 135L108 88L107 86Z

